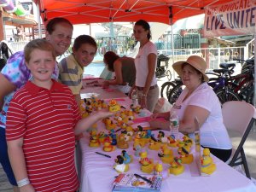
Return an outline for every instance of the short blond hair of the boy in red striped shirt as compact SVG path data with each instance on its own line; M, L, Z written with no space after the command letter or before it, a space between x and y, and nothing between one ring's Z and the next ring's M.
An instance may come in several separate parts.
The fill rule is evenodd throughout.
M55 59L55 49L52 46L52 44L49 43L49 41L42 39L42 38L38 38L35 40L32 40L31 42L29 42L28 44L26 44L25 48L24 48L24 55L25 55L25 61L29 62L31 59L31 53L34 49L39 49L39 50L46 50L46 51L50 51L53 58Z

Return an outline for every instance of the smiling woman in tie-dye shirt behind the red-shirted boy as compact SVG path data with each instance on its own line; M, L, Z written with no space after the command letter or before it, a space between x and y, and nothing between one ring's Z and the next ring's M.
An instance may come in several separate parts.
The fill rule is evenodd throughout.
M50 44L54 46L55 55L62 55L71 44L73 35L72 23L64 18L56 17L46 25L46 37ZM59 70L55 63L55 72L53 79L58 79ZM9 183L14 186L15 191L19 191L15 181L14 173L9 164L7 153L7 144L5 139L6 113L9 108L9 102L15 92L19 90L26 82L32 78L30 70L25 64L24 51L16 52L9 57L6 65L0 73L0 162L9 179Z

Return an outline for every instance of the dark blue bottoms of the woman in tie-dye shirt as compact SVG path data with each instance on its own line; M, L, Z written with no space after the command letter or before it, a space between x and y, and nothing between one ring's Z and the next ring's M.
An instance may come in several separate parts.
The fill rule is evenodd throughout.
M8 177L9 183L11 183L13 186L17 186L15 174L9 162L5 129L2 127L0 127L0 163L3 166L3 171Z

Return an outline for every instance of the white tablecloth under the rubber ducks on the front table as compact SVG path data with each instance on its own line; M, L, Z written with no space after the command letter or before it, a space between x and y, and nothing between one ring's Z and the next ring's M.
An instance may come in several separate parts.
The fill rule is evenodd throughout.
M121 103L129 106L130 101ZM148 123L144 123L147 125ZM140 124L141 125L141 124ZM98 130L103 128L102 122L98 123ZM157 136L158 131L154 131ZM113 170L114 159L117 155L121 154L121 150L117 148L115 151L108 153L111 158L104 157L96 154L96 151L107 154L101 148L90 148L88 135L82 138L79 142L81 149L81 176L80 176L80 191L81 192L111 192L113 189L112 183L114 177L118 175ZM177 149L173 148L173 151ZM132 143L130 148L126 150L128 154L133 155L133 162L130 164L129 173L143 174L140 171L138 158L134 156L132 150ZM160 161L157 152L148 149L148 157L154 158L154 162ZM243 176L240 172L236 172L232 167L226 165L223 161L212 157L217 166L217 171L213 172L211 176L195 177L191 173L191 168L195 164L189 166L185 165L185 172L183 174L167 177L161 187L161 192L255 192L256 187L247 177ZM163 164L164 169L168 167ZM195 168L195 167L194 167Z

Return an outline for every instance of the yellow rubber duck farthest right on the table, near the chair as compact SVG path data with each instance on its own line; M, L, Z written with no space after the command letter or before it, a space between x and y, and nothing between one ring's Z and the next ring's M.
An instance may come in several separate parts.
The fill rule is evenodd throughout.
M215 170L216 165L213 163L212 157L210 156L210 149L204 148L201 157L201 172L211 175Z

